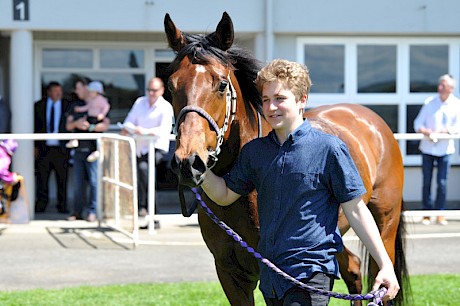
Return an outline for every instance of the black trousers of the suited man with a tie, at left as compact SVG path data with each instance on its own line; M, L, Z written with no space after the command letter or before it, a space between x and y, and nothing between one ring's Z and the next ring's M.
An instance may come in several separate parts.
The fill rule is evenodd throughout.
M49 203L49 179L51 172L56 176L57 209L67 211L67 172L69 165L67 149L63 147L46 146L39 152L36 160L36 202L35 211L43 212Z

